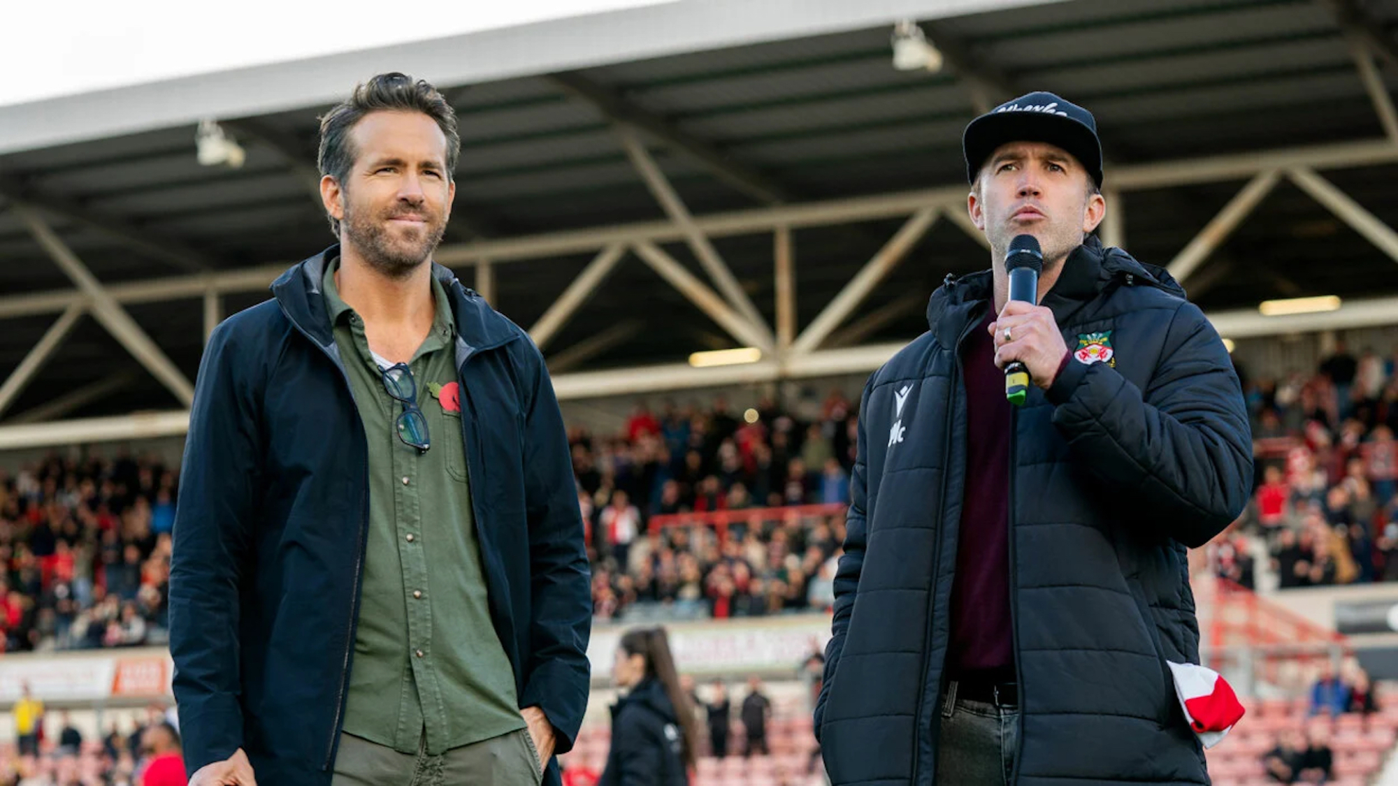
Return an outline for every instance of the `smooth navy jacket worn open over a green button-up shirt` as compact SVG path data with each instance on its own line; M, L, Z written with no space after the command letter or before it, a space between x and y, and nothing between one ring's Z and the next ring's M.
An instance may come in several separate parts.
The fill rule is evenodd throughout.
M320 278L214 330L199 369L171 564L171 655L190 773L246 750L259 783L329 786L354 666L368 448ZM471 506L520 706L573 745L587 706L587 555L540 351L445 267ZM463 708L463 712L467 709ZM545 782L558 783L551 762Z

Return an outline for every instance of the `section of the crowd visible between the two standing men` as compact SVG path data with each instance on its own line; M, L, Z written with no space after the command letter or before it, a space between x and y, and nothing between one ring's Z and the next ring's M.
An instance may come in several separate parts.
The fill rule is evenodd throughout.
M665 404L658 415L637 404L610 438L572 429L597 618L828 607L854 428L854 407L835 392L809 422L770 400L734 417L720 397L709 410Z

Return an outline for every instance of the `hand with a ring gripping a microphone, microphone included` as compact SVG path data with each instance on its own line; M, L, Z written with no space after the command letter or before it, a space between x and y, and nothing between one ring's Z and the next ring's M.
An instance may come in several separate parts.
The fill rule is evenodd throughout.
M1009 299L990 326L995 340L995 365L1005 369L1005 397L1022 406L1029 385L1047 390L1068 354L1053 312L1036 305L1043 255L1033 235L1018 235L1005 255Z

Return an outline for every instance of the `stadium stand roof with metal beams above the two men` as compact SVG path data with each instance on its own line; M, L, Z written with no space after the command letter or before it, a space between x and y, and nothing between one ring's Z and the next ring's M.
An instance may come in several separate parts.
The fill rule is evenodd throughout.
M923 22L939 71L892 67L902 17ZM865 270L867 298L807 344L916 336L941 278L987 264L955 208L960 130L1032 90L1096 113L1116 221L1103 232L1158 264L1192 241L1187 288L1211 315L1398 295L1398 120L1380 119L1395 25L1398 0L714 0L0 106L0 369L52 344L8 413L180 407L172 378L194 378L206 310L266 299L275 270L331 241L313 199L316 117L390 69L433 80L460 115L439 259L468 285L534 326L607 257L591 267L603 278L615 246L605 284L556 323L548 354L575 350L558 371L674 364L735 345L744 324L770 336L787 322L779 225L795 227L794 330ZM246 148L242 168L199 164L201 117ZM647 162L660 178L644 179ZM670 217L667 185L682 203ZM893 249L867 269L900 228L907 259ZM55 241L77 257L67 271ZM95 278L81 296L71 262ZM201 298L211 287L218 298ZM700 310L706 292L726 309ZM712 319L723 310L727 330ZM55 406L74 392L85 400Z

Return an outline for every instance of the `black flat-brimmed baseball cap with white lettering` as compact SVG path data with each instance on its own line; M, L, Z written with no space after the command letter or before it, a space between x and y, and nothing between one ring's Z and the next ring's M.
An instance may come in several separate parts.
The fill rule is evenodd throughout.
M1012 141L1044 141L1067 150L1102 187L1097 122L1082 106L1051 92L1030 92L976 117L962 131L966 179L974 183L990 154Z

